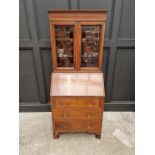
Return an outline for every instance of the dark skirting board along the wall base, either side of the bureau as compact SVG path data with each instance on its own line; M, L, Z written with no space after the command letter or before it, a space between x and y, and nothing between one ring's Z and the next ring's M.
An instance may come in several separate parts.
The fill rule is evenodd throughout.
M49 103L21 103L19 112L49 112L51 106ZM104 104L104 111L135 111L134 101L112 101Z

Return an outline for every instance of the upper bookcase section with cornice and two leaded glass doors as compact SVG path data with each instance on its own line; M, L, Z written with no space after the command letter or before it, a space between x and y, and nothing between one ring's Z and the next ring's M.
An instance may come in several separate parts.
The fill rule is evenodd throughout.
M101 72L106 11L49 11L53 72Z

